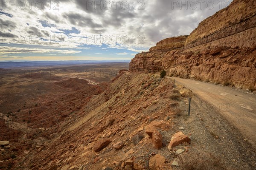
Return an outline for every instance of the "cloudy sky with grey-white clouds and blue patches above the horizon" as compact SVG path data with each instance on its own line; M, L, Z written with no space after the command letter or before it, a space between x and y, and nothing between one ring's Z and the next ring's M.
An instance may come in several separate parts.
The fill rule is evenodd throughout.
M0 0L0 61L130 60L231 0Z

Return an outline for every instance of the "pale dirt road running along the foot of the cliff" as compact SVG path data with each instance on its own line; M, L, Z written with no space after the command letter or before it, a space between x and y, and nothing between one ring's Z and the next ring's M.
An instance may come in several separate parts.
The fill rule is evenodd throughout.
M256 95L221 85L192 79L175 79L220 110L222 116L231 122L251 144L256 146ZM232 133L232 132L230 132Z

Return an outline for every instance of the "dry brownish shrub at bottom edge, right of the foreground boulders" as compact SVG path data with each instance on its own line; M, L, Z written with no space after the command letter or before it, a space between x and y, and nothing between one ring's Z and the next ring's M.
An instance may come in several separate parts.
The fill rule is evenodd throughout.
M221 160L207 153L189 153L178 156L182 170L227 170Z

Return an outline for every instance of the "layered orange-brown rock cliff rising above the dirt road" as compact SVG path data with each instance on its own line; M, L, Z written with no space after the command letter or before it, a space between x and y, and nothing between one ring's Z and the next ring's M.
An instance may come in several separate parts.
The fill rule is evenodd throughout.
M130 71L235 85L256 90L256 2L234 0L189 36L167 38L137 54Z

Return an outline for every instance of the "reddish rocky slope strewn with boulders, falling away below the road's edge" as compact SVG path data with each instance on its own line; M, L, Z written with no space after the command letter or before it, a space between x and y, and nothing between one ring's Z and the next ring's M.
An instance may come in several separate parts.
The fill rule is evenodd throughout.
M189 117L188 96L195 99ZM13 116L0 116L8 119L8 126L15 123ZM16 126L22 129L21 124ZM195 165L250 170L256 166L255 149L214 107L181 85L174 89L172 79L154 74L121 71L105 91L92 94L59 122L57 132L42 136L44 131L36 130L31 140L24 135L18 142L1 141L1 168L184 170Z

